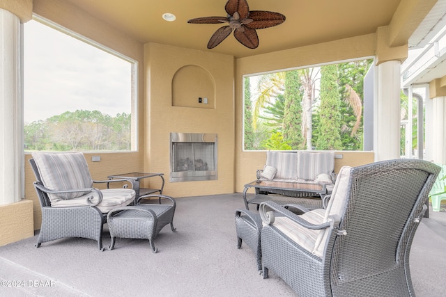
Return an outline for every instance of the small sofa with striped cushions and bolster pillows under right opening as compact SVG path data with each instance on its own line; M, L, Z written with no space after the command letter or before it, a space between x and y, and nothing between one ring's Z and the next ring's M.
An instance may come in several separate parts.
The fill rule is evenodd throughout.
M268 151L265 166L263 169L257 170L257 179L326 184L328 191L331 191L336 180L334 152ZM262 192L260 189L256 189L256 193L261 194ZM286 193L279 194L286 195Z

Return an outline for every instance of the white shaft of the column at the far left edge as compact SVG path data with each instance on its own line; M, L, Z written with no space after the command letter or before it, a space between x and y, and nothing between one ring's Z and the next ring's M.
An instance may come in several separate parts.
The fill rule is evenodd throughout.
M0 205L22 199L20 19L0 8Z

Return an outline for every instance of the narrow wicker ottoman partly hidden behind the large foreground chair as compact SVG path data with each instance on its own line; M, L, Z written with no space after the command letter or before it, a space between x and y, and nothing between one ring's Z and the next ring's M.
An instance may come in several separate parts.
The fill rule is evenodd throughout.
M237 248L241 248L242 241L245 241L249 248L254 250L259 271L262 270L262 252L260 245L261 230L262 220L259 214L254 214L247 209L236 210Z

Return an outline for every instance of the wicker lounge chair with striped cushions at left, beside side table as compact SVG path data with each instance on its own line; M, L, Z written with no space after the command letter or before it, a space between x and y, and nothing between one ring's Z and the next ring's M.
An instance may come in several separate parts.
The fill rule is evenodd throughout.
M98 241L102 249L102 227L107 213L133 202L130 188L98 190L93 183L123 182L123 179L93 181L81 152L35 152L30 159L37 181L34 187L42 209L40 244L64 237ZM108 185L108 184L107 184Z

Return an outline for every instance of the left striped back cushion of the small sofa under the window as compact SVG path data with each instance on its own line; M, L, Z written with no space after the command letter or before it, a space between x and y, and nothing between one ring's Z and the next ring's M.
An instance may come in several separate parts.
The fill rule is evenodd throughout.
M294 152L266 153L266 165L277 168L274 178L298 179L298 154Z

